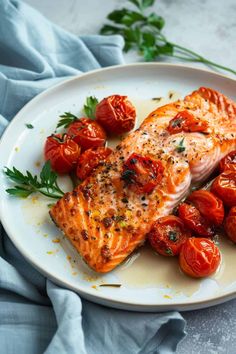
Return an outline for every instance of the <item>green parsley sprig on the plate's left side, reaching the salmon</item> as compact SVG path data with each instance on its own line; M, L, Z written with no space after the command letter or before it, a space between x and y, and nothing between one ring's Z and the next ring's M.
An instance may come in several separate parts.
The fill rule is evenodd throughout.
M30 194L39 192L47 197L60 199L64 192L57 184L57 174L52 171L51 164L47 161L38 176L32 175L29 171L25 174L13 167L4 170L5 175L16 182L14 188L6 189L6 192L16 197L27 198Z

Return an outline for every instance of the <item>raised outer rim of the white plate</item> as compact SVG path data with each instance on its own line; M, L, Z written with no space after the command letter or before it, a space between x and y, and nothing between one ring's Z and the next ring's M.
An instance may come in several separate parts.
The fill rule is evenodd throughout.
M100 72L104 72L104 71L113 71L113 70L119 70L122 68L133 68L135 69L135 67L162 67L168 70L168 68L181 68L187 71L194 71L195 73L203 72L206 73L208 75L211 75L212 77L218 77L221 79L225 79L225 80L229 80L233 83L236 83L236 79L229 77L227 75L221 74L221 73L216 73L213 72L211 70L207 70L207 69L203 69L203 68L197 68L194 66L190 66L190 65L184 65L184 64L174 64L174 63L130 63L130 64L121 64L121 65L114 65L114 66L109 66L109 67L105 67L105 68L98 68L95 70L91 70L89 72L86 73L81 73L79 75L76 76L68 76L68 77L64 77L62 78L62 81L60 81L59 83L49 87L48 89L44 90L43 92L41 92L40 94L36 95L34 98L32 98L29 102L27 102L21 109L20 111L14 116L14 118L10 121L10 123L8 124L8 126L6 127L6 129L4 130L1 138L0 138L0 151L2 149L2 147L4 146L4 140L5 140L5 136L7 136L8 131L11 130L12 125L15 123L16 120L20 120L22 116L24 116L24 112L31 109L31 106L34 104L37 104L38 101L40 101L41 99L44 98L44 96L47 96L48 94L52 94L53 91L57 91L57 89L60 87L62 88L63 86L66 86L68 84L70 84L71 82L75 81L75 80L79 80L80 78L86 78L89 76L94 76L97 73L99 74ZM4 218L4 210L3 210L3 201L1 201L0 203L0 220L2 222L2 225L7 233L7 235L9 236L9 238L11 239L12 243L14 244L14 246L18 249L18 251L23 255L23 257L35 268L37 269L41 274L43 274L44 276L46 276L48 279L54 281L56 284L62 285L64 287L67 287L68 289L71 289L73 291L75 291L76 293L79 293L82 297L84 298L89 298L91 301L94 301L96 303L103 303L107 306L112 306L115 307L115 305L118 305L120 308L126 307L130 310L132 310L132 307L135 307L135 310L137 311L137 306L140 307L140 311L151 311L151 310L162 310L162 309L180 309L181 310L189 310L191 307L193 309L193 307L197 308L204 308L204 307L208 307L208 306L213 306L219 303L222 303L224 301L228 301L233 299L234 297L236 297L236 290L232 290L232 291L228 291L225 294L221 294L219 296L214 296L214 297L210 297L210 298L203 298L203 299L196 299L195 301L189 301L189 302L185 302L185 301L180 301L180 302L175 302L175 303L171 303L171 302L163 302L160 304L155 303L141 303L140 301L129 301L129 299L126 299L125 301L121 301L119 299L117 299L116 297L111 298L110 295L107 295L105 293L95 293L94 289L90 289L90 288L86 288L86 291L83 289L84 286L82 286L82 289L79 289L74 287L73 285L71 285L70 283L67 283L67 281L65 280L61 280L58 277L55 277L54 275L50 274L47 270L45 270L44 268L42 268L41 265L37 264L37 261L35 261L33 259L33 257L30 256L30 254L25 254L24 249L21 248L21 244L20 242L17 242L17 239L15 238L15 236L11 233L11 230L8 230L8 225L6 223L6 220ZM10 232L9 232L10 231ZM112 304L111 304L112 303ZM186 307L186 308L185 308Z

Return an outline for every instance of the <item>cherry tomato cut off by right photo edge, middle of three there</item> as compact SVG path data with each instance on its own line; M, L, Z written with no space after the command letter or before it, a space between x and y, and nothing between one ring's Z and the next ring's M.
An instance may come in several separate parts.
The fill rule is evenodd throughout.
M236 206L236 171L224 171L213 182L212 193L216 194L225 205Z

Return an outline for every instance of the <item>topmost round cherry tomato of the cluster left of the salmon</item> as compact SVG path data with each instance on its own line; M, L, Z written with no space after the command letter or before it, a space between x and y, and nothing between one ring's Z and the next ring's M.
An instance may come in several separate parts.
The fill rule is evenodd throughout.
M112 95L96 107L96 119L107 133L123 134L134 128L136 111L127 96Z

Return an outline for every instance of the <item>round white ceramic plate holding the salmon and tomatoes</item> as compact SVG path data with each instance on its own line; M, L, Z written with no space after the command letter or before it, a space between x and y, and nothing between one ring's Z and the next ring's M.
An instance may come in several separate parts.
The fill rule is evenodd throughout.
M141 120L156 105L151 98L169 95L174 100L200 86L236 98L236 81L171 64L117 66L67 80L34 98L16 115L0 142L0 169L16 166L21 171L39 173L45 138L55 130L59 115L65 111L80 113L87 96L101 99L115 93L128 95L137 105ZM34 129L27 129L27 123ZM88 269L50 221L47 204L51 200L10 197L5 192L10 185L1 173L1 220L15 246L41 273L91 301L128 310L164 311L198 309L235 296L236 274L231 270L236 267L236 250L231 244L224 245L227 257L223 254L224 263L213 279L190 279L179 271L176 260L164 259L146 248L118 270L101 276ZM225 269L230 269L230 274ZM122 286L100 287L102 283Z

